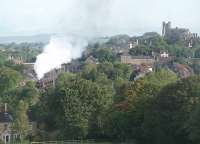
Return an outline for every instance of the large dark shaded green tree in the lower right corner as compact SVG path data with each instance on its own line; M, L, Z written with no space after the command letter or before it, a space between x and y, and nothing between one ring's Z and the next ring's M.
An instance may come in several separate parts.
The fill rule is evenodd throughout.
M154 144L187 144L186 122L199 103L200 77L193 76L163 88L152 101L145 116L143 129L146 142Z

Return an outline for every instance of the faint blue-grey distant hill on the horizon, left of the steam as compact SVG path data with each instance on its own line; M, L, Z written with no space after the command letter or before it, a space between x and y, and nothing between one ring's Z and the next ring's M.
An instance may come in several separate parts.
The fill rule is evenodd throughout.
M23 42L44 42L47 43L50 40L51 34L40 34L33 36L7 36L0 37L0 43L23 43Z

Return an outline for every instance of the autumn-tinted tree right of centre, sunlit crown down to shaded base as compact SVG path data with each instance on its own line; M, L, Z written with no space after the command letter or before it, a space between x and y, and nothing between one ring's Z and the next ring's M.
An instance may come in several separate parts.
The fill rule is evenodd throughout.
M117 82L115 103L109 111L105 127L108 136L120 140L136 139L142 142L146 111L152 106L152 102L155 102L160 90L176 80L175 73L161 69L137 81Z

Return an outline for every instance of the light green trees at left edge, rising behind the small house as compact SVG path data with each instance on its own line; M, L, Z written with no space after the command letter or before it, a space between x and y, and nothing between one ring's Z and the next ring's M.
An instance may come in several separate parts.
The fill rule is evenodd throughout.
M0 103L8 104L8 113L13 118L12 131L20 134L20 139L27 138L29 134L29 110L39 100L39 90L32 81L27 81L19 71L12 67L0 67Z

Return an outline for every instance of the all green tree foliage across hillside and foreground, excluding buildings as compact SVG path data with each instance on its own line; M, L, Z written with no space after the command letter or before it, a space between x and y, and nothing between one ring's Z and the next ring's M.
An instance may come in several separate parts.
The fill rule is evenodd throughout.
M120 63L116 54L129 40L126 35L117 36L90 45L80 59L80 71L63 72L55 87L45 88L36 87L24 76L25 67L8 62L12 44L8 51L0 51L0 102L8 103L14 117L13 129L27 138L28 123L33 120L38 123L36 135L29 136L33 140L200 143L200 76L181 78L173 68L177 63L184 64L199 74L198 45L189 49L179 43L170 44L155 33L145 34L139 38L142 44L126 52L152 56L167 51L174 59L156 63L152 72L135 79L136 68ZM35 49L29 50L28 44L20 47L12 54L33 62ZM98 62L85 62L87 55Z

